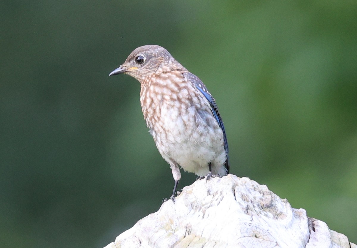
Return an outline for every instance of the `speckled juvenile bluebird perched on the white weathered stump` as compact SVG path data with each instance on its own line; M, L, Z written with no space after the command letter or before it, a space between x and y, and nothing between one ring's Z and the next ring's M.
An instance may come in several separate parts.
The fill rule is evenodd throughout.
M175 186L181 166L200 178L229 173L222 118L202 81L163 47L141 46L109 76L128 74L141 85L140 104L161 156L170 164Z

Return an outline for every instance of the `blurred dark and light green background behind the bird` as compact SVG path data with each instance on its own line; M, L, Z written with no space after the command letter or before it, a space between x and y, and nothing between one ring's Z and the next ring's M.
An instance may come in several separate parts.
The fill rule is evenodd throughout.
M1 1L0 247L103 247L170 196L140 84L108 77L147 44L216 98L232 174L357 243L356 13L354 0Z

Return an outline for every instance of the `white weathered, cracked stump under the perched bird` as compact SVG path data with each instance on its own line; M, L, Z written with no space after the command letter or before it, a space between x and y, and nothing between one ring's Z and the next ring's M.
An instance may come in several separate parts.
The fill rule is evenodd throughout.
M184 187L105 248L119 247L357 248L266 185L231 174Z

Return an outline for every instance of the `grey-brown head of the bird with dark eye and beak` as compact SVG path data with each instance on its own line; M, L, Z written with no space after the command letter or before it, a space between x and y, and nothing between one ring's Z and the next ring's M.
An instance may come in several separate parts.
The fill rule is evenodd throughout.
M147 45L132 51L125 62L112 71L109 76L124 73L142 83L153 74L177 69L185 68L164 47Z

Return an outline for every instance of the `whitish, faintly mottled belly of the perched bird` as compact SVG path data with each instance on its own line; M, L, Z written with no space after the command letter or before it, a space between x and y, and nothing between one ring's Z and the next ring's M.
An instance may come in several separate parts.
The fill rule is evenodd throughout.
M213 174L226 175L223 132L213 115L205 115L203 120L194 108L180 114L171 106L165 107L161 108L160 121L152 128L162 157L167 162L174 160L184 170L198 176L208 173L209 163Z

